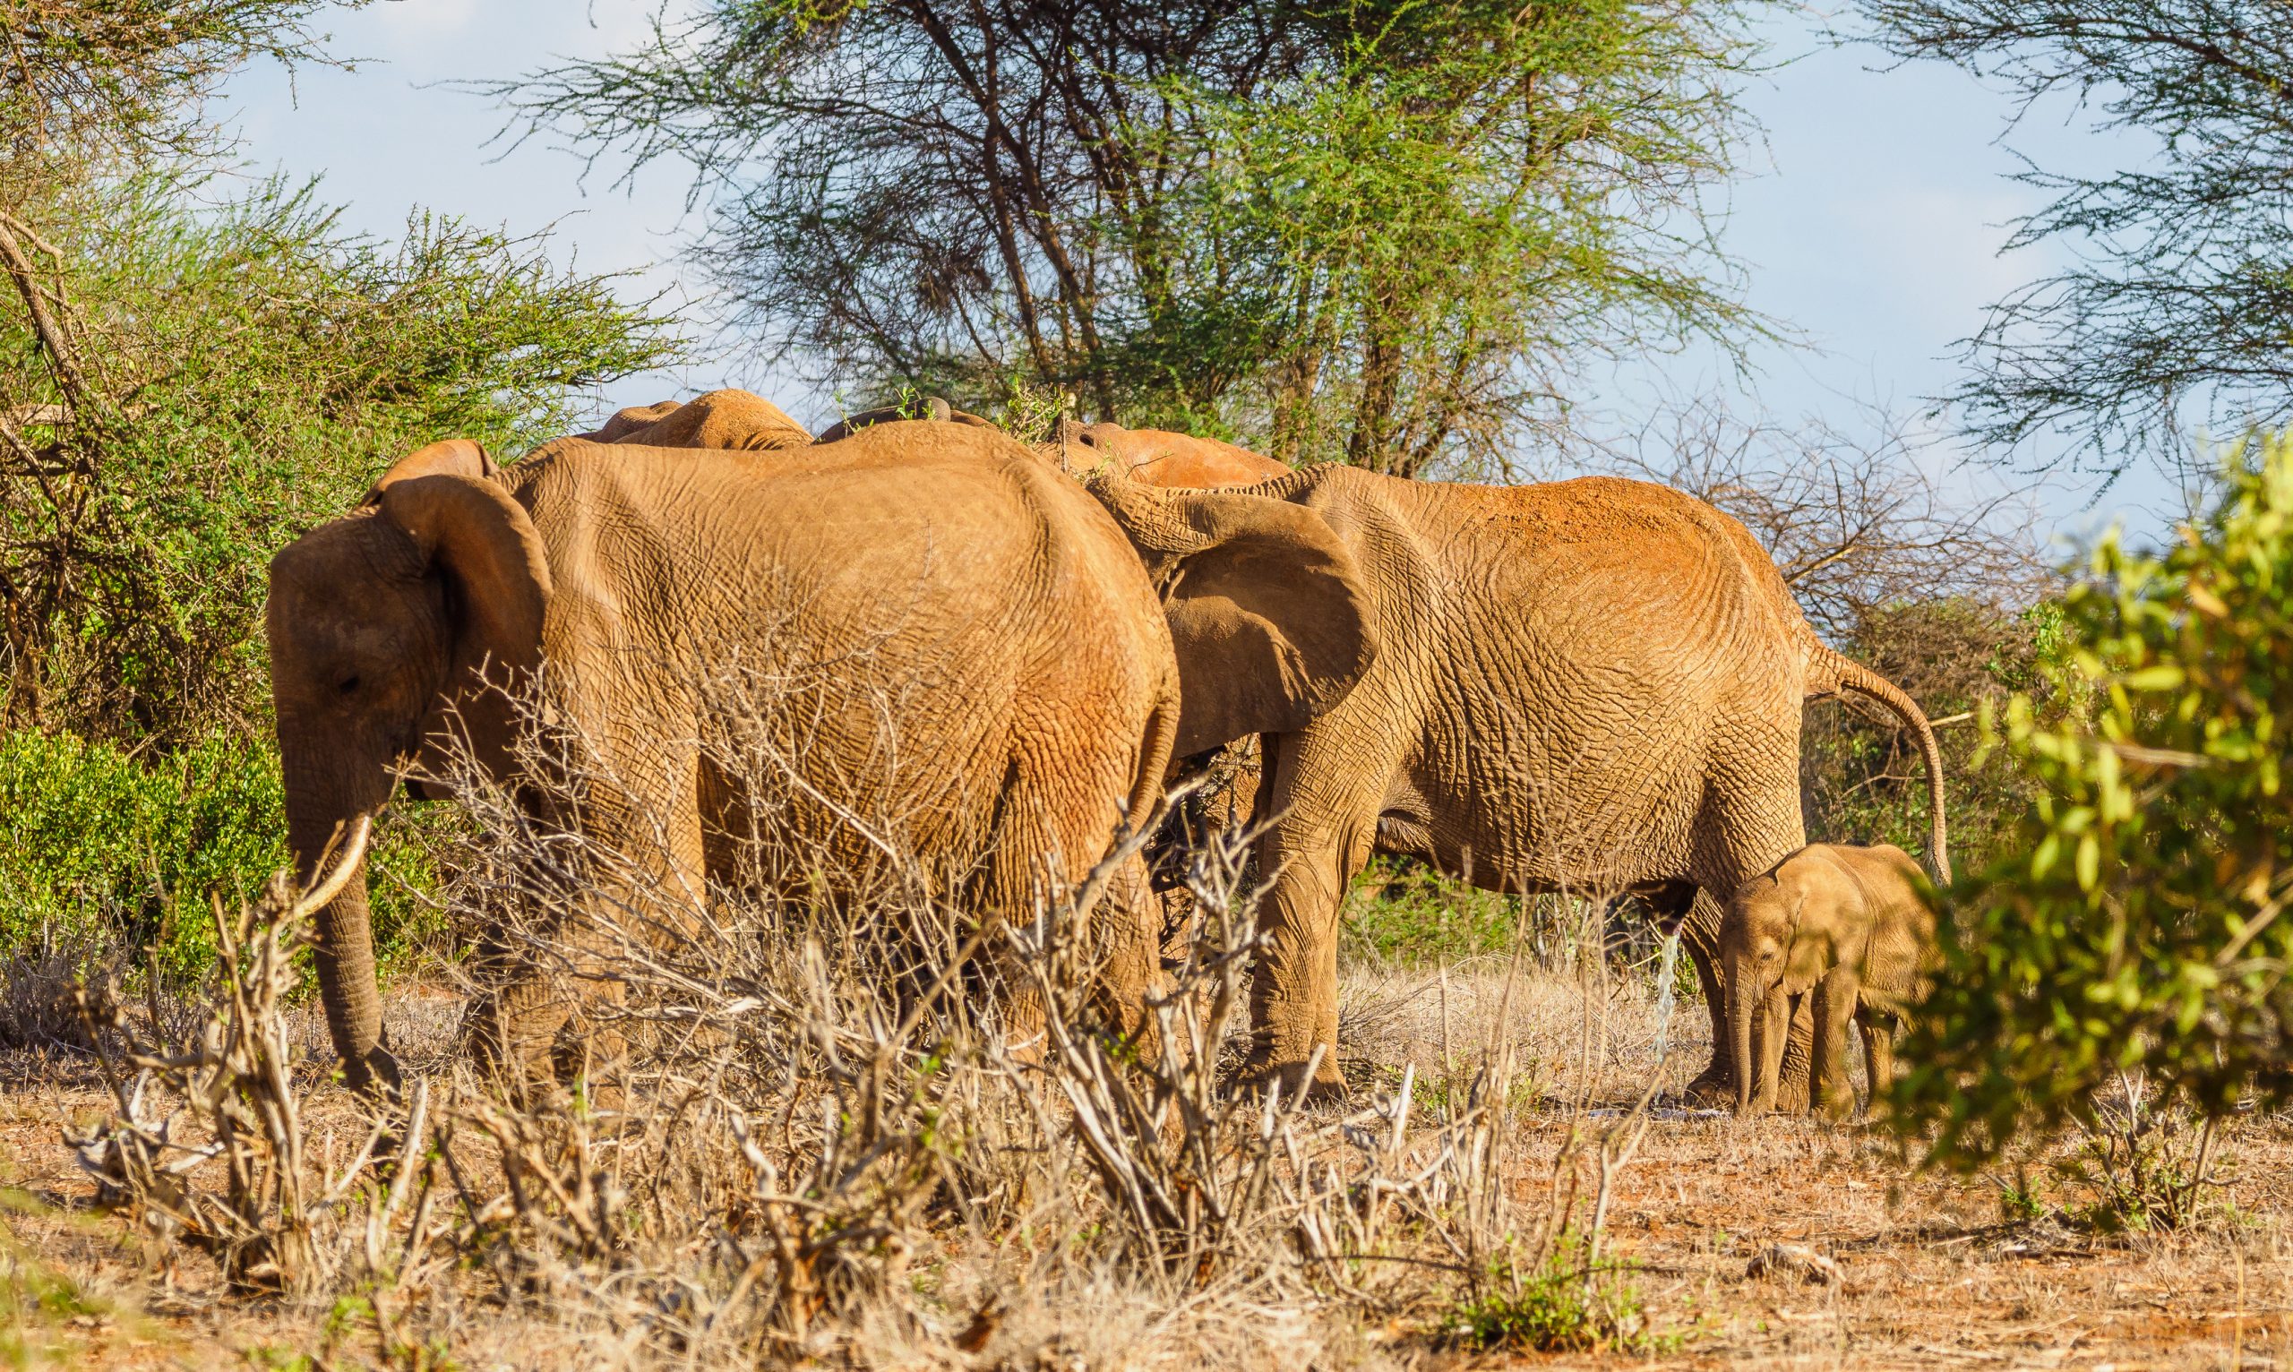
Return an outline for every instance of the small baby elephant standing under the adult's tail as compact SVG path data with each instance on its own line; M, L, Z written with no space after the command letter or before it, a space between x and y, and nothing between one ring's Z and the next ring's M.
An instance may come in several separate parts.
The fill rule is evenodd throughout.
M1814 996L1809 1081L1818 1108L1832 1117L1855 1108L1848 1016L1862 1028L1871 1092L1885 1090L1894 1021L1933 954L1933 888L1894 844L1809 844L1745 881L1720 922L1736 1113L1775 1108L1784 1039L1802 996Z

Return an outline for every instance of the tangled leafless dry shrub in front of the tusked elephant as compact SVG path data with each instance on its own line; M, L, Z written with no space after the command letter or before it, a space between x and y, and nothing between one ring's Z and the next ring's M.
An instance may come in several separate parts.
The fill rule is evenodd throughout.
M323 890L284 881L218 913L195 1032L115 1016L112 1117L78 1145L167 1262L197 1248L241 1292L330 1308L330 1356L371 1338L349 1351L383 1361L532 1356L548 1328L580 1365L1348 1365L1387 1356L1364 1328L1523 1310L1520 1273L1603 1312L1571 1347L1630 1342L1601 1230L1646 1094L1580 1110L1523 1188L1529 1074L1502 1012L1353 1104L1238 1090L1247 835L1183 863L1188 927L1126 1019L1096 973L1110 929L1156 918L1142 835L1025 918L979 918L968 863L915 856L910 792L796 769L796 677L722 686L750 714L704 755L768 803L709 890L534 819L532 787L514 805L475 769L438 778L479 819L447 863L491 927L472 989L516 968L578 1003L569 1085L445 1058L321 1161L307 1120L332 1088L298 1065L284 993ZM564 787L555 812L635 792L580 739L548 748L527 775ZM775 824L798 787L839 824Z

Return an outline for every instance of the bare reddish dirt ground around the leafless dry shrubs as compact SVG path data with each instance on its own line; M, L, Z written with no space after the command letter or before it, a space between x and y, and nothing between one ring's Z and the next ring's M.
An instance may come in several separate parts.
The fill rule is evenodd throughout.
M454 1014L445 991L399 991L392 1032L420 1062L447 1051ZM1346 1016L1357 1094L1394 1083L1408 1062L1431 1074L1445 1042L1456 1058L1497 1023L1513 1030L1534 1081L1507 1161L1518 1200L1550 1193L1555 1156L1571 1136L1614 1122L1612 1110L1637 1099L1651 1076L1681 1085L1711 1049L1699 1005L1667 1019L1644 989L1545 975L1507 991L1502 975L1470 966L1447 975L1355 968ZM319 1049L316 1023L303 1032ZM103 1110L85 1058L18 1051L0 1060L0 1361L369 1365L371 1340L353 1354L330 1338L339 1303L222 1296L211 1264L147 1250L122 1216L94 1209L94 1191L62 1143L66 1124ZM353 1147L355 1104L344 1092L321 1090L312 1120L321 1154ZM1474 1354L1429 1338L1424 1319L1394 1319L1364 1328L1341 1356L1323 1340L1312 1365L2293 1365L2293 1124L2233 1122L2224 1156L2231 1182L2194 1230L2110 1237L2059 1218L2006 1223L2002 1179L1917 1172L1862 1124L1658 1108L1617 1175L1605 1237L1607 1255L1630 1266L1621 1280L1658 1331L1656 1347ZM1747 1276L1772 1246L1789 1246L1775 1271ZM1052 1315L1078 1328L1103 1319L1094 1310ZM1277 1317L1284 1312L1266 1312ZM468 1370L527 1372L571 1365L573 1349L521 1317L468 1328L465 1340L422 1356L436 1354ZM1119 1349L1110 1358L1124 1365ZM580 1363L612 1361L612 1349L580 1344ZM1098 1363L1073 1358L1075 1367ZM424 1363L408 1351L399 1365ZM1174 1365L1167 1351L1158 1365Z

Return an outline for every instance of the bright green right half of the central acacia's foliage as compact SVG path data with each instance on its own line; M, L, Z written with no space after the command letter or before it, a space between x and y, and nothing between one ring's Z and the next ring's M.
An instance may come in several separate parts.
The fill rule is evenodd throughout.
M1302 18L1325 57L1231 92L1169 83L1165 165L1197 174L1140 227L1167 301L1124 340L1169 422L1250 381L1284 457L1401 475L1502 468L1557 367L1756 328L1727 262L1662 227L1729 172L1727 7L1392 7Z

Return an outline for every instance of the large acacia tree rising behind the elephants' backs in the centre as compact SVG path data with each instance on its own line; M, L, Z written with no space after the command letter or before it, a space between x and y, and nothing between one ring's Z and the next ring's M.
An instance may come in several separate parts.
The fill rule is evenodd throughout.
M699 167L699 257L828 376L1419 470L1750 323L1699 200L1740 60L1685 0L709 0L493 89Z

